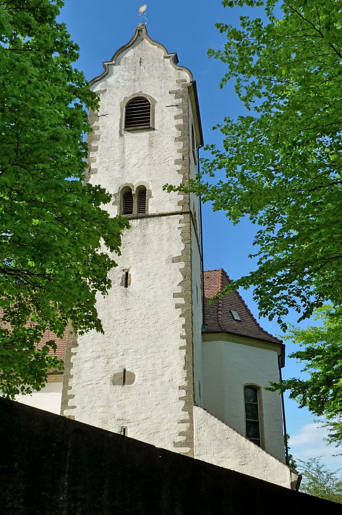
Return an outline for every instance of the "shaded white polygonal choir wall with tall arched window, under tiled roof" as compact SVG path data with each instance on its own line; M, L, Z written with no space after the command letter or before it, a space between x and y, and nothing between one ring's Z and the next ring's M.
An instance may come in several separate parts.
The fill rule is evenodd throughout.
M264 389L269 381L279 380L278 348L272 344L267 347L263 349L233 341L204 341L201 405L245 435L244 386L259 386L264 448L284 461L280 396Z

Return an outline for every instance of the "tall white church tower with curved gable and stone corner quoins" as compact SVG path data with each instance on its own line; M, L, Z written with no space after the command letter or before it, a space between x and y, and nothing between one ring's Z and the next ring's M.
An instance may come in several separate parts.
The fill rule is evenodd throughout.
M198 199L163 185L196 174L196 85L139 25L91 88L100 108L89 113L89 181L113 194L106 209L131 227L113 256L109 295L97 298L104 334L69 341L62 414L193 456L202 370Z

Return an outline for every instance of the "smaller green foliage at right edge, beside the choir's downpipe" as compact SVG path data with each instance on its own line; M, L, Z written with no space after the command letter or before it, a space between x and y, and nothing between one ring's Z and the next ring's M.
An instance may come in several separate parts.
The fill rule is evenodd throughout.
M330 428L329 441L342 443L342 307L325 305L315 310L320 325L300 329L290 326L284 339L299 344L302 350L290 357L304 363L307 379L282 380L272 389L290 392L290 398L323 416Z

